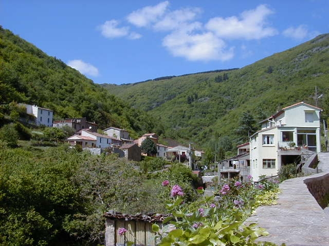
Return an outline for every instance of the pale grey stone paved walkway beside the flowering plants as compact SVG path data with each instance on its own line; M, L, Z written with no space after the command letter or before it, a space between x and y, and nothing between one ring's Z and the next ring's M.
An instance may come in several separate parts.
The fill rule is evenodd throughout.
M319 169L329 172L329 153L320 153ZM329 213L325 213L308 192L303 180L322 176L318 173L307 177L285 180L280 184L278 204L261 206L247 219L256 222L269 232L259 241L278 245L329 245Z

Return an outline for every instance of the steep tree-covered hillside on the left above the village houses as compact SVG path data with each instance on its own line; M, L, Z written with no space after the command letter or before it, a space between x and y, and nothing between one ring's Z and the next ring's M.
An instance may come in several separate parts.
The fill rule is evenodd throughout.
M132 109L92 80L0 27L0 101L36 104L56 119L87 117L100 128L127 129L131 135L154 131L154 119Z

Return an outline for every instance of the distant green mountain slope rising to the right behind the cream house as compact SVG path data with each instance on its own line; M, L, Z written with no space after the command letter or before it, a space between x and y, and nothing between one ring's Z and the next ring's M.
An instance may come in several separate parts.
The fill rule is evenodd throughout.
M329 105L329 34L241 69L199 73L130 85L103 85L132 107L159 117L166 136L206 145L211 138L230 136L243 112L261 120L282 107L305 101Z

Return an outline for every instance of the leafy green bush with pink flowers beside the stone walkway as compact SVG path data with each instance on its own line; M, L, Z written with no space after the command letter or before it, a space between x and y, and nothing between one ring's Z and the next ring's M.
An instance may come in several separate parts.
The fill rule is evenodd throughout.
M254 223L243 224L250 215L251 204L254 205L249 200L254 200L255 195L262 191L254 188L251 182L236 183L234 186L235 183L230 180L220 187L217 200L214 196L204 196L204 190L198 189L200 197L193 202L198 209L192 213L191 207L183 203L182 197L178 195L178 192L183 191L173 186L171 192L174 190L176 195L172 195L166 205L172 216L166 218L163 224L169 222L175 229L169 231L166 226L160 230L157 224L153 224L152 230L156 233L158 245L275 245L254 242L257 237L268 233Z

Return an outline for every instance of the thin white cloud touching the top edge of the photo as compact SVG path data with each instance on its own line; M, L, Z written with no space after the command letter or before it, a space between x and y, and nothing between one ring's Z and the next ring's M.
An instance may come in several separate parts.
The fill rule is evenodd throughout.
M168 1L161 2L155 6L146 6L138 9L127 16L127 20L137 26L145 27L157 21L162 16L169 5Z

